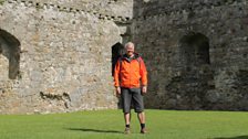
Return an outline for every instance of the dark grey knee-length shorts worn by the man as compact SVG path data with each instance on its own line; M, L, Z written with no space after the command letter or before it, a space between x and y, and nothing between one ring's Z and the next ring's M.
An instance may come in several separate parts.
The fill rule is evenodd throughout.
M143 96L141 88L121 88L121 100L123 113L131 113L131 105L133 104L135 113L144 111Z

